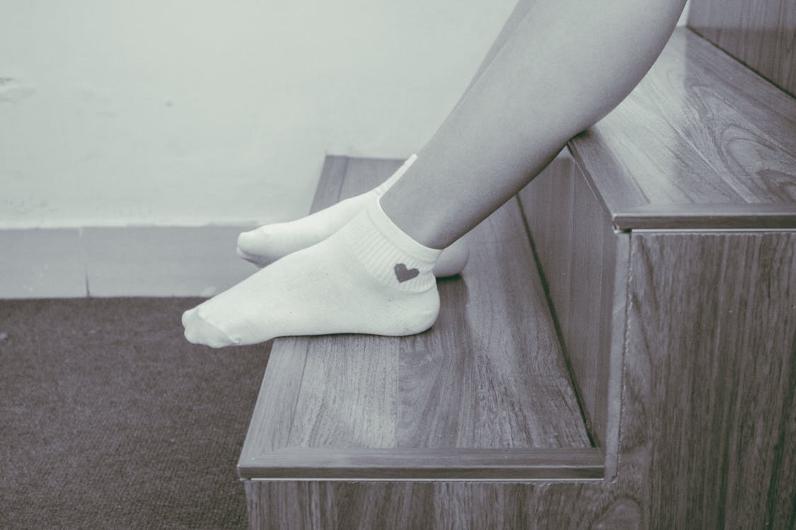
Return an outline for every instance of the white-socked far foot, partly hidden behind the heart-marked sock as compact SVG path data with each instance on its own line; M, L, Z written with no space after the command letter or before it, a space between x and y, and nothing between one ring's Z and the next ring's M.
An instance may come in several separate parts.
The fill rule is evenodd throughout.
M383 184L361 195L342 200L333 206L295 221L260 226L255 230L240 234L238 256L259 267L264 267L287 254L322 242L338 231L346 222L353 219L365 206L384 195L384 192L400 179L416 158L416 155L409 157ZM448 277L461 273L469 254L470 251L465 242L461 240L455 242L440 254L434 267L434 275Z

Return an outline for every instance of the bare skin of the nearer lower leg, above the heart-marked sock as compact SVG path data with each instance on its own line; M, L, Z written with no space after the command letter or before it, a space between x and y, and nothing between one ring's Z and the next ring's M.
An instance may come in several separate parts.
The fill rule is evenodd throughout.
M416 241L443 248L533 179L649 70L685 0L537 0L381 199Z

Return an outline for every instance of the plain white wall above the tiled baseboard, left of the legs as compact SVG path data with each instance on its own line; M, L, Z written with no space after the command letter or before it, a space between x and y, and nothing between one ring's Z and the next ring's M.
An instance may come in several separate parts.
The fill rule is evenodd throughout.
M0 227L302 215L325 153L419 149L512 6L0 0Z

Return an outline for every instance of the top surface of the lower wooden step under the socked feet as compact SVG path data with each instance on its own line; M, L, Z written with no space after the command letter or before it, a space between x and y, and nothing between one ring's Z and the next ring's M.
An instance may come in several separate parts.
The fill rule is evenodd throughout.
M327 157L314 210L399 165ZM466 238L470 261L439 280L431 330L275 340L239 470L285 448L591 447L517 199Z

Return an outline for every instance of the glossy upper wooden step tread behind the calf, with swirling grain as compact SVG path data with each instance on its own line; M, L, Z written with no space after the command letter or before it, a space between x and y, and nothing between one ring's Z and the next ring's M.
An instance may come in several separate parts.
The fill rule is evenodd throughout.
M796 99L689 29L569 147L619 229L796 227Z

